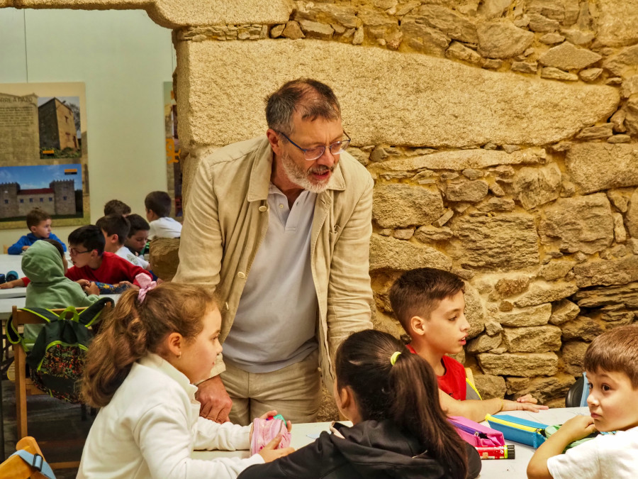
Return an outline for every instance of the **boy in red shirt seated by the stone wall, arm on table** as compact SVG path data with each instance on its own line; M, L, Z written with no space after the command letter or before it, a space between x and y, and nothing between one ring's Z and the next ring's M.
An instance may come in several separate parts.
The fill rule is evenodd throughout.
M403 273L390 289L392 309L412 342L408 349L432 366L439 383L441 407L449 416L463 416L476 422L486 414L524 409L538 412L530 395L516 401L498 397L466 400L465 368L446 356L463 351L469 330L465 318L463 280L451 272L419 268Z

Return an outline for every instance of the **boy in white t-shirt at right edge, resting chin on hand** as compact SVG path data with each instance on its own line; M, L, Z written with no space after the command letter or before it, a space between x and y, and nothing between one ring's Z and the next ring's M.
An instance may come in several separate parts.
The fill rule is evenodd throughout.
M638 477L638 324L595 338L585 353L591 416L569 419L538 448L527 478ZM617 431L561 452L598 430Z

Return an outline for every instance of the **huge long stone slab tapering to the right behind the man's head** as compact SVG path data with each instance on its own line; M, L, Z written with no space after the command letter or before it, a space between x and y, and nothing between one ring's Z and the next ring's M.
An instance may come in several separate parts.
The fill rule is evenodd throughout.
M204 40L178 41L176 48L186 149L263 135L263 99L291 72L330 84L354 145L547 145L608 118L619 101L617 89L605 85L566 85L339 42Z

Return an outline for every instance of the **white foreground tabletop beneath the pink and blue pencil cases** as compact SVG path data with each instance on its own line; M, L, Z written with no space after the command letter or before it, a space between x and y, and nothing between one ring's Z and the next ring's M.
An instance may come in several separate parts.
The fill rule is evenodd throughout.
M508 411L502 414L528 419L534 422L540 422L552 426L554 424L563 424L567 419L578 414L589 415L587 407L566 407L547 409L538 413L527 411ZM498 415L498 414L496 414ZM351 424L345 422L345 424ZM484 423L487 425L487 423ZM318 435L321 431L328 431L330 422L315 422L304 424L293 424L291 446L293 448L301 448L313 442L315 439L308 437L310 435ZM505 441L505 444L515 445L515 459L496 459L481 461L483 468L479 478L485 479L527 479L527 464L536 451L531 446L520 444L513 441ZM247 458L250 456L248 451L194 451L191 457L196 459L212 459L216 457L239 457Z

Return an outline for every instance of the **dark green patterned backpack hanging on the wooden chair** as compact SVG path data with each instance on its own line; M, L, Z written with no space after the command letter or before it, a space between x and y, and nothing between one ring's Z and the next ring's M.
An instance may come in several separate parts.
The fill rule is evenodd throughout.
M81 312L69 306L60 314L45 308L22 308L46 321L26 356L29 375L38 389L67 402L81 402L79 380L84 356L94 337L89 326L101 320L106 304L113 307L113 303L111 298L100 298ZM6 324L6 333L11 343L23 344L24 338L11 318Z

